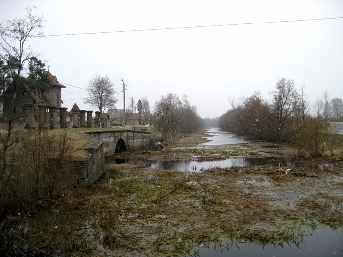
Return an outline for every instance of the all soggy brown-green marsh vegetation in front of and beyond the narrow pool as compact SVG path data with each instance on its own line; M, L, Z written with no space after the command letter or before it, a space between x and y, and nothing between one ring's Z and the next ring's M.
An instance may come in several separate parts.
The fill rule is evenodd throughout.
M290 145L274 148L264 141L204 147L205 137L201 130L162 150L118 154L116 158L141 161L116 164L108 159L107 176L81 187L69 183L70 169L64 169L61 180L44 173L42 163L35 171L44 183L33 187L32 180L32 187L23 184L15 191L17 200L23 194L32 199L13 202L9 210L4 204L13 194L1 194L1 254L180 256L223 242L301 244L305 227L343 226L342 156L298 158L291 168L214 166L190 173L144 167L144 159L184 162L194 156L218 160L295 152ZM72 145L66 140L64 149L74 149ZM318 164L329 165L319 169ZM16 187L12 183L8 188Z

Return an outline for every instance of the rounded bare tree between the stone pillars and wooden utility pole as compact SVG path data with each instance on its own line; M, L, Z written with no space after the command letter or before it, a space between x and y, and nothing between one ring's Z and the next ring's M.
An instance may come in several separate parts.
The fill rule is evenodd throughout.
M105 112L106 108L116 108L118 101L114 97L116 91L113 89L113 83L108 76L96 74L90 79L86 90L88 97L84 100L84 103L99 108L101 113Z

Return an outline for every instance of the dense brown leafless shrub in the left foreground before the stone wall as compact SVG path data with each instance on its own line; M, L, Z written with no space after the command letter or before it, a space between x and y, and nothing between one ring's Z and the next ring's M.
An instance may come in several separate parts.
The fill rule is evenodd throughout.
M54 208L68 198L76 181L68 160L72 151L65 131L31 131L11 149L0 187L0 255L42 254L65 233L47 217L58 216Z

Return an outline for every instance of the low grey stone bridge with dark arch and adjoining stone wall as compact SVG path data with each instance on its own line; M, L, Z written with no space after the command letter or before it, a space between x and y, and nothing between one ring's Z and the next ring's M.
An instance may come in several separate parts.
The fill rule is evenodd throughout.
M78 184L100 178L106 172L106 156L123 151L154 149L157 146L156 136L148 131L101 129L78 133L92 140L83 148L89 152L88 157L75 161Z

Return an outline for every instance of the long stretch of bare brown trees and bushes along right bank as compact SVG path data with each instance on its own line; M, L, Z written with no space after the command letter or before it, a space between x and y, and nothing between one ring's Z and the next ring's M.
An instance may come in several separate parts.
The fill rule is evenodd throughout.
M256 139L294 143L302 155L332 153L342 140L329 122L343 121L343 101L330 100L325 91L311 106L304 88L281 78L270 92L270 101L258 91L238 101L230 99L232 108L219 118L218 126Z

